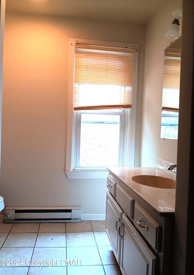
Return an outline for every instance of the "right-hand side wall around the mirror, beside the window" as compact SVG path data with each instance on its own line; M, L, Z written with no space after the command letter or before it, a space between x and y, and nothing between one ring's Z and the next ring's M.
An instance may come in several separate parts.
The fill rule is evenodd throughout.
M166 0L146 25L145 73L142 105L141 166L156 167L157 158L176 163L177 140L160 138L164 50L171 42L164 35L174 20L179 0ZM182 25L182 21L180 21ZM181 27L179 35L181 35Z

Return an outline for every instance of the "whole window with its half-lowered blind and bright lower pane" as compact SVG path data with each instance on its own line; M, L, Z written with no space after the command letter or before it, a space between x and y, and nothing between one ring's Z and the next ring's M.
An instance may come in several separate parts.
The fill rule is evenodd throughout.
M135 131L130 142L130 130L135 127L137 45L103 44L71 41L75 67L73 97L68 103L73 107L73 119L69 119L73 127L67 175L68 171L133 166Z

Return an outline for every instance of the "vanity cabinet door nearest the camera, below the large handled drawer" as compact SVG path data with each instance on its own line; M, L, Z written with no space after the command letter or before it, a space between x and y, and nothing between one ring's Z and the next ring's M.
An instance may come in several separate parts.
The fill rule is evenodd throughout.
M156 256L124 214L120 269L123 275L154 275L156 270Z

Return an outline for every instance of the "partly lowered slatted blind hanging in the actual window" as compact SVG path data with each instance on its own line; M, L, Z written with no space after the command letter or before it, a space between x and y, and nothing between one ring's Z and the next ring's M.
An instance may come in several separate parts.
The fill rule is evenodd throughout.
M74 110L132 108L134 53L76 44Z

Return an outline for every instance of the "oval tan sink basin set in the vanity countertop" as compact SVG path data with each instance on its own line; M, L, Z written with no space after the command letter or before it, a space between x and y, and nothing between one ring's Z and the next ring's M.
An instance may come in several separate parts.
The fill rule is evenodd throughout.
M139 184L143 184L150 187L168 188L168 189L176 188L176 180L169 179L167 177L138 175L138 176L133 176L132 180Z

